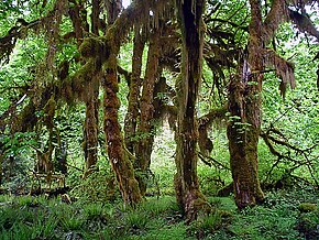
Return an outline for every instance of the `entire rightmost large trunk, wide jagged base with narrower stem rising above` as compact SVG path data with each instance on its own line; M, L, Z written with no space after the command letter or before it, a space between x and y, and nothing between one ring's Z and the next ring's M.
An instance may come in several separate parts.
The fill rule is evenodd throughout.
M251 0L249 68L234 76L229 86L228 126L230 163L235 203L239 208L264 199L257 174L257 143L261 131L261 90L264 69L262 13L258 0Z

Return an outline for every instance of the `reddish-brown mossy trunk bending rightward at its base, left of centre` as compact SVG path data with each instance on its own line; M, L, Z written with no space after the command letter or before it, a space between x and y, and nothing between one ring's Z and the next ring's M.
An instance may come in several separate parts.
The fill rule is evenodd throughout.
M121 1L108 1L108 23L112 24L120 12ZM125 204L134 205L141 201L139 183L134 176L133 165L124 148L124 140L119 123L120 99L119 83L117 75L117 54L119 44L110 40L110 57L107 61L106 76L103 81L105 89L105 133L107 140L108 155L116 177L119 189Z

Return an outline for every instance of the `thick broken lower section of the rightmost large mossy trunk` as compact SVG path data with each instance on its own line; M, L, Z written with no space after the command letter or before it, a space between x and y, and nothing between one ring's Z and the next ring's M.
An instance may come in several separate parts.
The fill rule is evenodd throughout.
M230 165L235 203L241 209L253 206L264 198L257 174L260 99L252 100L252 97L256 97L252 95L255 91L235 77L231 79L229 92Z

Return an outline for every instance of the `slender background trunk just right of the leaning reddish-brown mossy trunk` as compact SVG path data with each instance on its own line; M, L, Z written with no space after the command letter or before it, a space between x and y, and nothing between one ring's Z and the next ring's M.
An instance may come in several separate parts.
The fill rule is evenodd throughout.
M145 37L141 35L140 29L135 30L134 46L133 46L133 59L132 59L132 76L130 83L129 106L128 113L125 116L125 146L134 154L136 140L136 124L140 110L140 90L141 90L141 70L142 70L142 56L145 46Z

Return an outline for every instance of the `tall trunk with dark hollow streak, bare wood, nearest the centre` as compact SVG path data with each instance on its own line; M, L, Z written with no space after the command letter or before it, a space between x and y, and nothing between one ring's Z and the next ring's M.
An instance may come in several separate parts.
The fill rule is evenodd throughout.
M197 217L205 197L197 177L198 126L196 101L201 78L204 0L177 0L178 22L183 34L182 75L177 90L177 130L175 190L178 205L188 220Z

